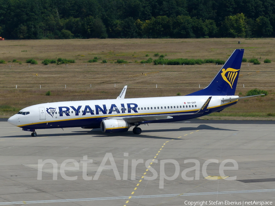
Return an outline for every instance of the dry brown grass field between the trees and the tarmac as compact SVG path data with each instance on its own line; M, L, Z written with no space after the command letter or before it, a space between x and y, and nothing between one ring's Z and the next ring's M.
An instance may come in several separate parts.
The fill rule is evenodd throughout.
M237 105L205 118L248 118L275 120L275 39L71 39L71 40L5 40L0 42L0 117L9 117L20 109L45 102L116 98L128 85L126 98L176 96L206 87L221 65L168 66L135 63L165 58L227 60L234 49L244 48L244 58L258 58L260 65L243 63L236 95L254 88L269 91L260 98L242 99ZM146 57L145 55L149 56ZM94 56L96 63L88 63ZM44 59L74 59L76 63L42 65ZM37 65L24 63L33 58ZM263 63L264 59L272 63ZM12 60L22 64L13 63ZM100 63L106 59L108 63ZM116 64L117 59L130 63ZM10 62L8 62L10 61ZM159 71L138 78L129 75ZM256 74L256 71L260 71ZM253 75L248 76L247 73ZM38 73L38 76L32 74ZM116 88L114 87L116 84ZM17 89L16 89L17 85ZM40 89L40 85L41 88ZM65 89L66 85L66 89ZM90 85L91 88L90 88ZM157 88L156 88L157 85ZM243 88L243 85L245 88ZM51 96L45 93L51 91ZM271 115L268 116L267 114ZM214 117L213 117L214 116Z

